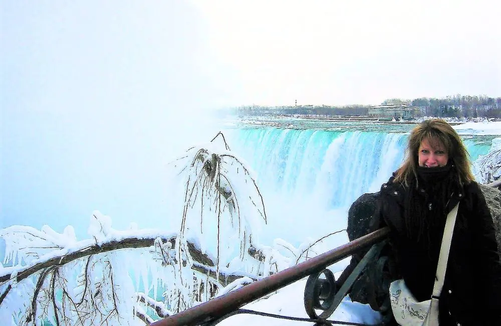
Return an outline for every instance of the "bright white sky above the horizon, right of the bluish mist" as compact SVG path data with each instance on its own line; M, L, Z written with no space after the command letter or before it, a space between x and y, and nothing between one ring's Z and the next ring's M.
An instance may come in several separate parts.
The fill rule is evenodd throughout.
M194 1L238 103L501 95L497 2Z

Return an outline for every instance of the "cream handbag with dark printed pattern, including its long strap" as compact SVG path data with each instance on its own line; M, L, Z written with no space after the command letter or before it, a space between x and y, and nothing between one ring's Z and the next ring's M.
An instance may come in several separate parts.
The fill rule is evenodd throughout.
M436 271L435 284L431 299L417 301L405 285L403 279L398 279L390 284L390 302L393 316L402 326L438 326L438 297L442 292L445 269L449 256L452 231L456 222L459 203L450 211L445 221L442 245Z

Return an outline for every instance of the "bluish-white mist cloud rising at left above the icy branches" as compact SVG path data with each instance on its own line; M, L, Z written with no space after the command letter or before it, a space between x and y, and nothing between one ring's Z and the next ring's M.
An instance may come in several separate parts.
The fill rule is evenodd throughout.
M0 227L165 220L167 162L227 98L202 24L181 1L0 0Z

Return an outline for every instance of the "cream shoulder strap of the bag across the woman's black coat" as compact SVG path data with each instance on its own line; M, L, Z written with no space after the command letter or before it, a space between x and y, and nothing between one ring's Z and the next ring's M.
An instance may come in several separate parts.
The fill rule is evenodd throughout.
M433 293L431 297L438 298L442 292L443 279L445 278L445 269L447 268L447 259L449 258L450 242L452 240L452 231L456 222L457 208L459 203L447 214L445 221L445 229L443 231L442 245L440 246L440 255L438 256L438 265L433 285Z

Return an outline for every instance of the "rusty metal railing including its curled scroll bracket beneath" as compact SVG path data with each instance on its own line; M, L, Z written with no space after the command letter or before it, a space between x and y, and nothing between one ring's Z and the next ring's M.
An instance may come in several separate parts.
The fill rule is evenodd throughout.
M334 312L365 265L381 250L382 241L387 238L389 232L388 227L379 229L296 266L210 299L175 315L158 320L151 325L214 325L228 316L236 313L246 313L248 310L239 309L244 304L277 291L309 275L310 277L305 288L305 308L311 319L307 320L318 321L318 324L321 324L322 321L325 321ZM337 289L332 272L326 268L370 246L372 248L366 253L341 287ZM322 274L325 275L325 278L320 278ZM320 309L323 312L317 315L315 309ZM295 320L301 319L305 318L295 318Z

